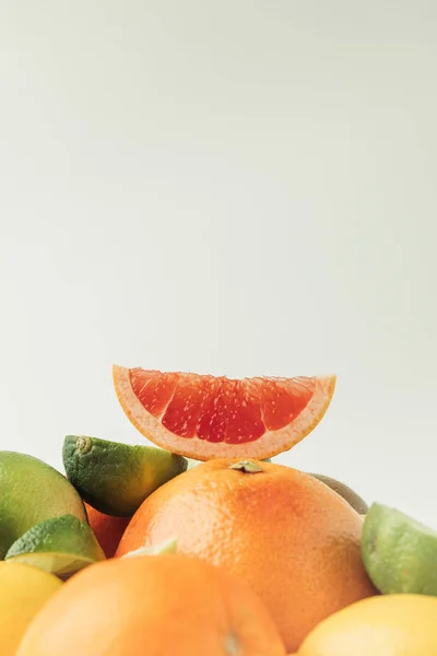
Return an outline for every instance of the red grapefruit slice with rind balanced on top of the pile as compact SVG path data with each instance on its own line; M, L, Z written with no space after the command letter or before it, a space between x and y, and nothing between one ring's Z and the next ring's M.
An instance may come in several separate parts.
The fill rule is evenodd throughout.
M174 454L264 459L319 423L335 376L243 378L114 366L118 400L142 435Z

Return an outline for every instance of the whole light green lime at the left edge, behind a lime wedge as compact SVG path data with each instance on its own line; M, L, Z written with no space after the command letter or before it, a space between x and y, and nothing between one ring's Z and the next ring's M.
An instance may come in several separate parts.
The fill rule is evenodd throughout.
M32 526L67 513L86 519L83 502L64 476L33 456L0 452L0 560Z

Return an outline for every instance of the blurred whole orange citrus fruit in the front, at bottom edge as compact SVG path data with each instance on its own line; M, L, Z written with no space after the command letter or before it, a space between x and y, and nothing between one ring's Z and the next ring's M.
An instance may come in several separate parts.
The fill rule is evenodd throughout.
M32 622L17 656L285 656L244 582L181 554L86 567Z

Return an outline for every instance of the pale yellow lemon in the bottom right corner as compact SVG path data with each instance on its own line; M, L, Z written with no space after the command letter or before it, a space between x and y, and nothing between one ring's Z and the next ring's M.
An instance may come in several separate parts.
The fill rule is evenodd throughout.
M383 595L356 601L323 620L298 656L437 654L437 597Z

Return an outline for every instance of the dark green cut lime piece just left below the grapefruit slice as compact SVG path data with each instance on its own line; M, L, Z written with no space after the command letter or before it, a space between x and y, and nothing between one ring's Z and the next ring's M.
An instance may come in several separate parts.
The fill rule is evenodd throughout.
M86 503L106 515L130 517L157 488L182 473L187 459L154 446L68 435L63 466Z

